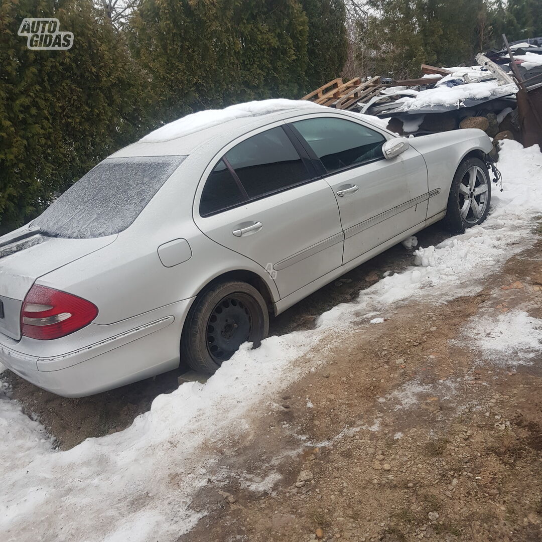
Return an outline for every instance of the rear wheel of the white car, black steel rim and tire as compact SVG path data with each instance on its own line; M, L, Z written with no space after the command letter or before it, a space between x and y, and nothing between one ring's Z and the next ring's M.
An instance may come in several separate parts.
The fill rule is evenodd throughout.
M212 375L242 343L258 347L268 332L267 305L254 286L218 283L199 294L190 308L180 355L194 371Z

